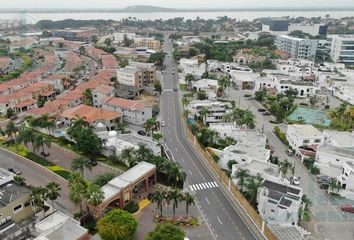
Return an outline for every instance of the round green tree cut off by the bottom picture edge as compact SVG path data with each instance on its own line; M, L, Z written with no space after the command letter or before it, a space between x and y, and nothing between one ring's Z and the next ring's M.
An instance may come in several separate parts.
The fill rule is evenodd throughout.
M164 223L156 226L154 231L149 232L146 240L184 240L185 233L172 223Z

